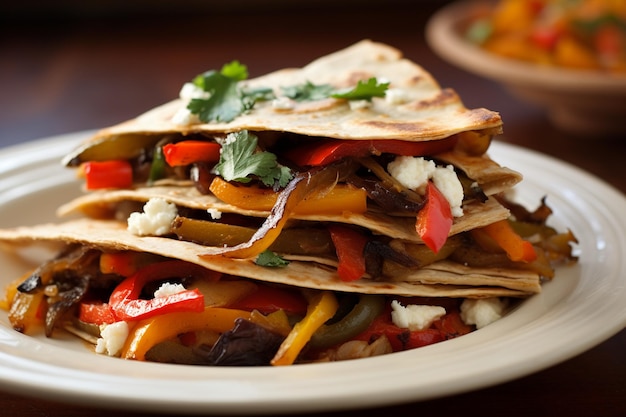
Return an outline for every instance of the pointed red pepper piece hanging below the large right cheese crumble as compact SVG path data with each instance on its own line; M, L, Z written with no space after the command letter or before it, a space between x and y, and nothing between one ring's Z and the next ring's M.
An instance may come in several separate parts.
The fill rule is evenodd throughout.
M429 181L426 186L425 205L417 214L415 230L433 252L439 252L446 243L452 220L450 203L435 184Z

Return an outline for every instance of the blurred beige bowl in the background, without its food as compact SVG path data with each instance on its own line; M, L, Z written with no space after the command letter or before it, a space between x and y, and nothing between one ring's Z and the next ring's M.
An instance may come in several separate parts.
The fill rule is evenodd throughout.
M429 46L446 61L545 108L559 129L586 136L626 133L626 76L540 66L495 55L467 40L463 32L474 11L493 4L474 0L443 7L426 26Z

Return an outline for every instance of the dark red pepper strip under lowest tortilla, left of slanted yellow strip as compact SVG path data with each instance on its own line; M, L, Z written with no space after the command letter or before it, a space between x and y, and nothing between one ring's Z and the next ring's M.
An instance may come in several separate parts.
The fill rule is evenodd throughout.
M258 310L266 315L278 310L304 315L307 306L307 300L299 292L259 285L253 293L228 307L247 311Z

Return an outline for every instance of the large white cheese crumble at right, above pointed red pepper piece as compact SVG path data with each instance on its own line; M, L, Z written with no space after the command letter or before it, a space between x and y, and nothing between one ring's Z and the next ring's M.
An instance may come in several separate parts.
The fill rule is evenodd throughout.
M450 203L452 215L463 215L463 186L452 165L437 166L421 156L398 156L387 165L387 171L400 184L421 194L424 194L428 180L432 179Z

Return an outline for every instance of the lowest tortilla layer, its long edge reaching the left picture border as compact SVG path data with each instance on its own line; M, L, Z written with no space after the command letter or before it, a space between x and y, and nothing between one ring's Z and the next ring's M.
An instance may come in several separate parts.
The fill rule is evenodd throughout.
M102 250L132 250L167 256L202 265L211 270L264 282L296 287L426 297L524 297L541 291L537 274L523 270L468 268L440 262L411 271L393 281L362 278L342 281L336 268L309 261L291 261L285 267L259 266L250 259L203 257L205 248L194 243L161 237L138 237L117 221L77 219L65 223L0 229L7 250L32 244L80 243Z

